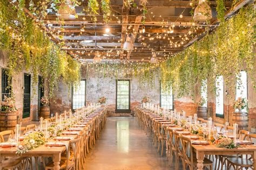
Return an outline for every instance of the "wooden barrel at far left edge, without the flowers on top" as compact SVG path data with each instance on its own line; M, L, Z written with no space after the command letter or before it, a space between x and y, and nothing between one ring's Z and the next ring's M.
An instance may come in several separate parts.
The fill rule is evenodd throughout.
M1 112L0 113L0 131L15 130L17 124L16 112Z

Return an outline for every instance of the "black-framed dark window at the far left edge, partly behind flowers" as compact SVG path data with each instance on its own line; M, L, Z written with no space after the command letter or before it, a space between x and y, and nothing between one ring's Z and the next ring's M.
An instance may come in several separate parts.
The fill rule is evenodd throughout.
M7 74L7 69L2 69L2 101L4 100L4 96L10 97L11 96L11 86L9 82L9 76Z

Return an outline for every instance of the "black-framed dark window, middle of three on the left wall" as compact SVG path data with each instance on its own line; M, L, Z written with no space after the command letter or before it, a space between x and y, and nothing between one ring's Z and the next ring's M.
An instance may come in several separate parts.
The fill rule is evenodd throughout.
M23 96L23 116L30 117L30 93L31 93L31 75L24 73L24 96Z

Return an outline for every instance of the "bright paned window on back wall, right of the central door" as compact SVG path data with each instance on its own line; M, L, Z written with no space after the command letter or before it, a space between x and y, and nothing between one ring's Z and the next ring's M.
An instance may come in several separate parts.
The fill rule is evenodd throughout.
M164 91L160 83L160 107L173 110L172 88Z

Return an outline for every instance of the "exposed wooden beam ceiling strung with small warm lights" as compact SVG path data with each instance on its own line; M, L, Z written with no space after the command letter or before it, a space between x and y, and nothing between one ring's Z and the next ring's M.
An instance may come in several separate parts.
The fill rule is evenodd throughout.
M165 60L202 38L206 31L212 31L219 23L216 1L208 2L213 18L207 23L194 22L190 1L136 0L137 8L124 5L127 1L111 0L112 15L107 23L102 15L96 16L96 23L91 21L91 16L83 11L87 8L87 1L76 8L78 18L75 20L59 21L56 13L50 13L43 22L52 40L57 43L64 40L62 49L81 61L91 61L96 51L103 59L109 60L149 61L152 52L156 52L159 60ZM250 2L252 0L240 0L232 6L232 1L225 1L225 18L233 16ZM147 8L145 19L143 6ZM27 9L24 10L33 17ZM106 28L110 32L106 32ZM123 50L127 35L131 37L133 51Z

